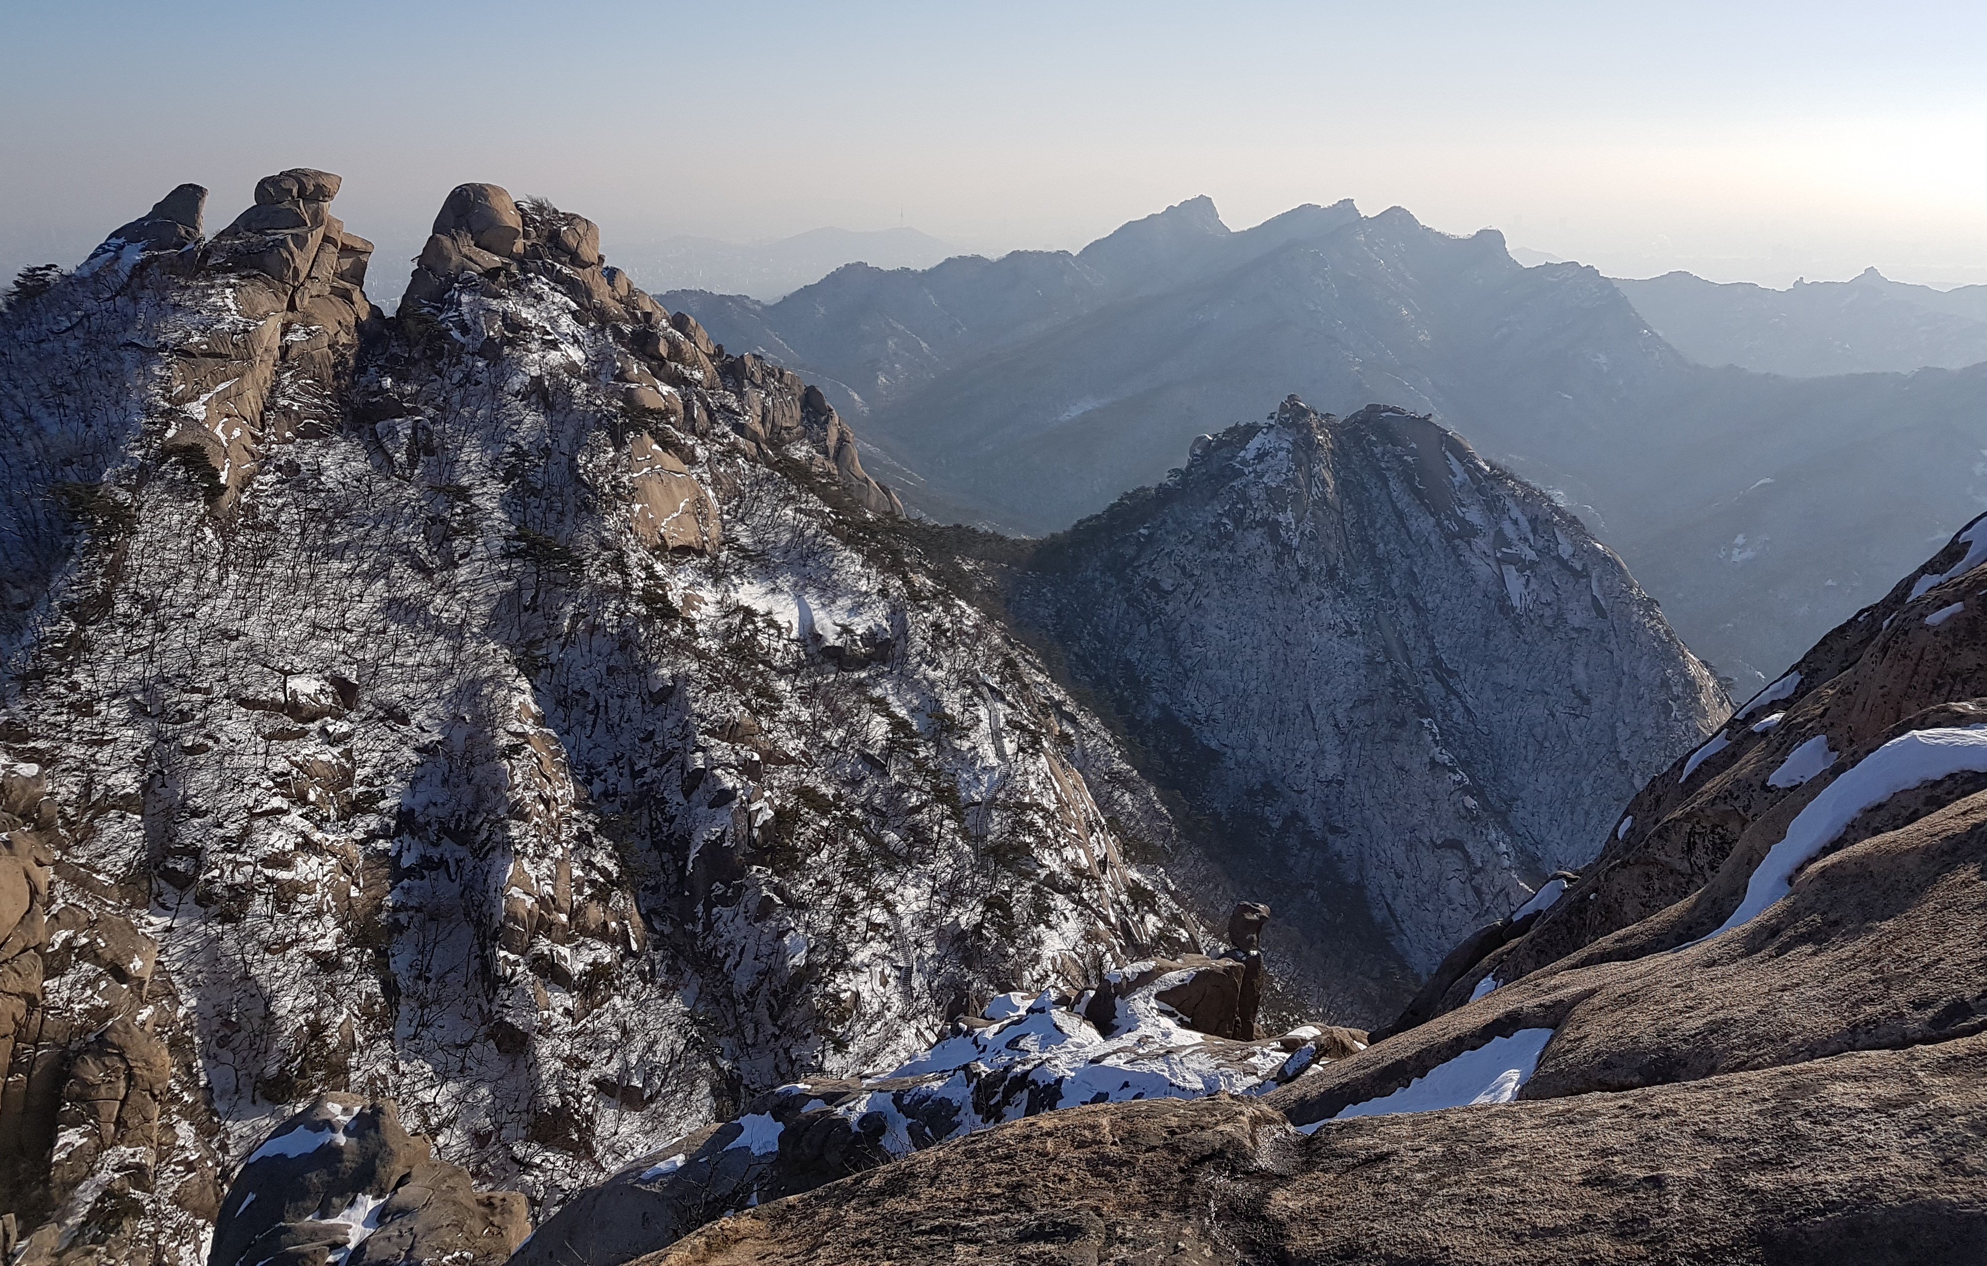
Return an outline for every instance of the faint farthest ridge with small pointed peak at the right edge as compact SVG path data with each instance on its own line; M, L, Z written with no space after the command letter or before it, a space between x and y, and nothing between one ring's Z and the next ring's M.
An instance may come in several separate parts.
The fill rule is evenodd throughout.
M1689 272L1615 286L1669 346L1705 366L1814 378L1987 360L1987 286L1933 290L1876 268L1786 290Z

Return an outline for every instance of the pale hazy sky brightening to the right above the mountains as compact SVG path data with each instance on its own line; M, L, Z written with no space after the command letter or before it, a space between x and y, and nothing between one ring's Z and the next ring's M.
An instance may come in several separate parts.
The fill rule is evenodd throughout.
M411 252L459 181L602 244L1077 246L1405 205L1617 274L1987 282L1987 4L0 4L0 268L280 167Z

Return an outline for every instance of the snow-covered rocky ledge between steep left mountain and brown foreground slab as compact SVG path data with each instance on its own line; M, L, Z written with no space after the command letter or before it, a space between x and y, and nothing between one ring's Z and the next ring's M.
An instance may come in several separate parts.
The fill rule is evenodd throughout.
M1236 954L1260 976L1258 950ZM894 1071L779 1087L737 1121L642 1157L540 1224L513 1262L626 1262L713 1218L1003 1121L1083 1103L1262 1095L1365 1047L1359 1029L1319 1026L1236 1039L1242 974L1242 958L1188 956L1107 972L1079 996L997 998Z

